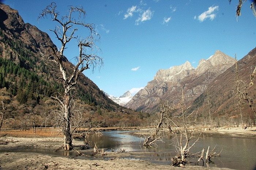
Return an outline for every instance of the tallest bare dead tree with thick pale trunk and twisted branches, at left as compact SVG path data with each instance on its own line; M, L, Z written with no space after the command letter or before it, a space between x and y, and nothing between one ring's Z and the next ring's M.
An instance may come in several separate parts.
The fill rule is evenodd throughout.
M99 48L95 45L95 41L99 39L98 33L94 29L93 24L85 23L86 12L83 10L83 7L69 7L69 13L65 16L60 16L59 11L57 11L57 6L55 3L48 5L39 15L38 19L50 16L52 21L57 24L55 29L50 29L57 39L60 41L61 47L58 50L50 44L44 44L41 47L40 53L44 59L49 62L56 63L60 69L62 76L58 79L61 80L64 87L63 98L59 99L56 96L52 96L54 99L59 101L59 104L63 108L61 114L62 123L62 132L64 134L64 149L72 149L72 128L71 128L71 110L70 110L70 101L71 101L71 91L74 90L75 85L77 84L78 77L84 70L96 66L102 66L102 58L97 55ZM75 16L77 16L75 18ZM63 52L66 50L67 43L71 42L72 39L77 39L78 36L76 32L78 27L81 29L88 29L89 35L86 38L80 38L78 41L79 55L76 57L76 64L69 68L67 64L64 63ZM98 39L95 39L98 37Z

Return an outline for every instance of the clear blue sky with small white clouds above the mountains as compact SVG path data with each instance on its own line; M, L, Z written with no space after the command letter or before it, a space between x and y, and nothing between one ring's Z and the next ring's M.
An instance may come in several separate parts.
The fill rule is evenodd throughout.
M52 1L1 0L17 9L25 23L48 33L56 23L37 20ZM68 5L82 5L87 23L94 23L101 36L97 46L103 58L101 70L84 72L97 86L113 96L139 88L153 80L159 69L189 61L196 68L216 50L241 59L256 46L256 18L250 0L236 18L238 0L55 0L58 11ZM80 36L82 34L79 34ZM71 60L78 55L76 41L64 53ZM72 60L71 60L72 61ZM136 90L137 89L137 90Z

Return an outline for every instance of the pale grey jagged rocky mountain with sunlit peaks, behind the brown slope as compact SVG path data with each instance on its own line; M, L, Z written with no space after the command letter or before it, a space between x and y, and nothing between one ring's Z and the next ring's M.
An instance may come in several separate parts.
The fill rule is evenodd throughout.
M125 107L155 112L161 100L173 102L181 96L182 89L187 102L192 102L203 93L207 85L235 63L221 51L216 51L207 60L200 60L196 69L187 61L180 66L159 70L151 82L140 90Z

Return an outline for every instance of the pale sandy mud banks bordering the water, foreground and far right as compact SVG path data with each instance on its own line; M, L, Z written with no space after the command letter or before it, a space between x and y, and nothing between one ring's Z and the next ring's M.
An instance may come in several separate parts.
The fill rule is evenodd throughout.
M254 128L254 129L253 129ZM241 128L221 128L211 131L203 131L204 135L220 135L226 137L243 137L255 138L255 127L248 129ZM93 149L78 150L82 155L73 150L69 155L54 154L54 151L59 149L63 142L62 137L46 137L43 135L22 134L22 133L0 133L0 169L101 169L101 170L134 170L134 169L161 169L161 170L176 170L179 167L156 165L140 159L132 159L135 153L124 152L105 152L92 157ZM4 143L7 143L6 145ZM83 142L74 141L74 145L82 145ZM42 153L23 153L14 152L24 149L38 149L50 151L47 154ZM13 150L13 151L10 151ZM60 151L59 151L60 152ZM67 154L67 153L65 153ZM130 159L127 159L130 158ZM187 166L186 169L190 170L203 170L206 167ZM222 169L218 167L210 167L208 169Z

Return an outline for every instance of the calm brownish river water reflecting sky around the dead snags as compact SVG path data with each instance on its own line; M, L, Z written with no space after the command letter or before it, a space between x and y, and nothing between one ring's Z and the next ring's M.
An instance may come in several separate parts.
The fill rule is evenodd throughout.
M134 159L143 159L161 165L169 165L171 157L176 155L176 141L173 135L163 138L163 141L157 141L155 146L145 148L140 145L143 139L135 134L134 131L105 131L103 135L94 135L87 138L90 141L91 148L94 143L98 148L108 149L125 149L143 154L134 154ZM196 140L197 138L195 138ZM193 142L192 142L193 143ZM191 143L191 144L192 144ZM255 138L231 138L231 137L200 137L195 146L190 149L190 153L197 153L204 149L206 153L208 146L210 151L214 149L220 157L211 158L211 166L226 167L237 170L255 170L256 168L256 140ZM197 154L198 155L198 154ZM189 162L195 165L198 157L191 158ZM205 160L205 158L204 158ZM203 162L200 161L200 166ZM206 163L204 163L206 166Z

